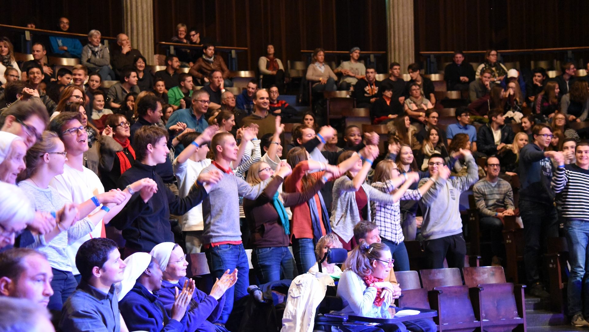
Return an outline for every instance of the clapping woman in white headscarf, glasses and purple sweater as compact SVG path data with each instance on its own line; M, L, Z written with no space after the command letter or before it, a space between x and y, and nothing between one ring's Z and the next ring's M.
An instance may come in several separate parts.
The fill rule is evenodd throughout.
M183 285L189 281L186 277L188 266L186 254L180 245L174 242L163 242L154 246L151 255L157 259L161 271L163 271L161 290L158 295L159 300L170 314L174 305L174 294L181 291ZM214 323L221 317L225 303L225 291L233 287L236 282L237 269L231 273L227 270L221 279L217 279L210 295L195 289L188 307L187 331L226 332L226 328Z

